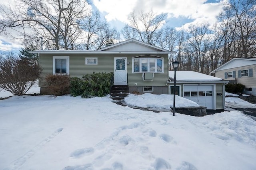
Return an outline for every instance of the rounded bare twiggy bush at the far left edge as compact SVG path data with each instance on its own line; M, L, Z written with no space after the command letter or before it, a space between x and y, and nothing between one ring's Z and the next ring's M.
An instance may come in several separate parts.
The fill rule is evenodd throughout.
M36 83L38 72L38 65L10 53L0 59L0 89L24 95Z

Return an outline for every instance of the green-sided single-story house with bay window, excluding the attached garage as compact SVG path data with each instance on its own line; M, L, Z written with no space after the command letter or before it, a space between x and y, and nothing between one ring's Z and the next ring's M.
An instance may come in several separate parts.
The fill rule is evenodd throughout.
M93 72L113 72L114 85L128 85L130 93L168 94L168 55L175 53L135 39L98 50L38 50L39 87L47 94L45 77L67 74L82 78Z

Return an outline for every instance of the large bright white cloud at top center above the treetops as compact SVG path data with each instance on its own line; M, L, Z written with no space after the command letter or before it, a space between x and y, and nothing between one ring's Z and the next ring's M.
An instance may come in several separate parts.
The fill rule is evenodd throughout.
M167 13L168 18L187 18L197 24L208 21L214 23L216 15L221 11L220 2L206 3L207 0L93 0L94 5L101 12L106 12L106 20L120 20L127 23L129 14L135 12L149 12L156 14Z

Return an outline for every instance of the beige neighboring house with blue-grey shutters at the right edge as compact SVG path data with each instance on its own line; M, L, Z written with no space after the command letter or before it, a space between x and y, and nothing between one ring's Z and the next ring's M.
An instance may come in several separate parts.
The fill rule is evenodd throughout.
M244 93L256 95L256 58L233 58L213 70L215 77L245 85Z

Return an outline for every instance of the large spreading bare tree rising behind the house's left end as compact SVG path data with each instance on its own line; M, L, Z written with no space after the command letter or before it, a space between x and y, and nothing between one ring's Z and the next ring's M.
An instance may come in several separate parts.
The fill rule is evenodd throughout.
M79 23L86 11L83 0L18 0L16 6L0 6L0 33L7 28L21 27L44 38L48 48L74 49L80 35Z

